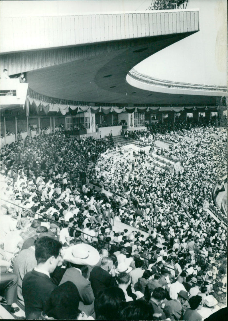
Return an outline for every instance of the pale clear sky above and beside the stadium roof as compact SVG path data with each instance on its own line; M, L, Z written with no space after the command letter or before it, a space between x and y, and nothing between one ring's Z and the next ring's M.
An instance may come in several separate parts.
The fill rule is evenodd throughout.
M1 17L144 11L151 0L2 0ZM227 85L227 2L189 0L199 9L200 31L135 66L142 74L171 81Z

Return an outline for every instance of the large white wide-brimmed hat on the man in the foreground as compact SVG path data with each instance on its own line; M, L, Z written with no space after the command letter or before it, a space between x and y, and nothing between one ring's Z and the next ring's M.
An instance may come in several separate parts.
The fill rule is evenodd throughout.
M96 265L100 255L96 248L89 244L76 244L65 250L63 259L73 264Z

